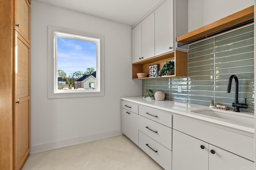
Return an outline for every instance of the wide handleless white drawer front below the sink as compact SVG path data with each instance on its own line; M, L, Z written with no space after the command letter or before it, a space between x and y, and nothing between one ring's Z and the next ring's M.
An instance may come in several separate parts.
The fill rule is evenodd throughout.
M174 115L173 129L254 160L254 138Z

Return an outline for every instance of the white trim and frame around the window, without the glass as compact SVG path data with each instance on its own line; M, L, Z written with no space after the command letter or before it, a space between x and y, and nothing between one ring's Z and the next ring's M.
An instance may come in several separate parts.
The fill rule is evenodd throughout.
M55 60L54 49L55 32L81 35L85 37L99 39L99 57L97 57L96 61L96 90L58 90L58 86L56 86L58 84L58 80L56 77L57 63ZM48 25L48 98L76 98L93 96L104 96L104 36Z

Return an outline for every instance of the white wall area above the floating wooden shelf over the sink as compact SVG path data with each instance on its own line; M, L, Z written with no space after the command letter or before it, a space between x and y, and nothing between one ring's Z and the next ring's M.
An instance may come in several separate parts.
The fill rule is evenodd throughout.
M188 32L252 5L254 0L188 0Z

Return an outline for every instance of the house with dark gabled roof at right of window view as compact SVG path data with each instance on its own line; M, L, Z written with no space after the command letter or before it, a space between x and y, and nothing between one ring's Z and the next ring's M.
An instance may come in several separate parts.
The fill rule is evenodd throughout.
M75 81L75 88L94 89L96 87L96 71L90 75L84 75Z

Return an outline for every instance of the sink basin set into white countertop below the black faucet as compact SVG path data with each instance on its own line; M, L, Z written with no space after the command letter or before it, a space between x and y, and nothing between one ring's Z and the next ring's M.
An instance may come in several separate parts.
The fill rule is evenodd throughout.
M242 125L245 127L254 128L254 115L245 112L234 112L231 110L220 110L220 109L198 109L191 111L199 114L200 116L233 123L236 125Z

